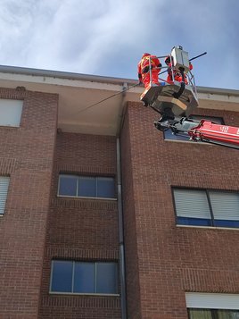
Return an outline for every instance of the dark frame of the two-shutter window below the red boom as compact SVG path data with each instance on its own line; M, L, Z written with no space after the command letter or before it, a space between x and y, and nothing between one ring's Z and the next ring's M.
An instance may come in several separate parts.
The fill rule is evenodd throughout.
M198 221L198 223L182 223L182 222L178 222L178 216L177 216L177 205L176 205L176 200L175 200L175 196L174 196L174 189L189 189L189 190L199 190L199 191L204 191L206 193L206 197L207 197L207 201L208 201L208 205L209 205L209 210L210 210L210 225L206 225L206 224L200 224L200 222L202 221ZM230 222L230 219L225 219L225 220L218 220L218 221L225 221L226 225L218 225L217 223L217 219L215 218L214 216L214 213L213 213L213 208L212 208L212 205L211 205L211 199L210 199L210 191L211 192L222 192L222 193L235 193L235 194L238 194L238 197L239 197L239 192L236 191L236 190L231 190L231 189L202 189L202 188L189 188L189 187L181 187L181 186L172 186L171 187L171 194L172 194L172 198L173 198L173 207L174 207L174 213L175 213L175 219L176 219L176 224L177 226L180 226L180 227L202 227L202 228L213 228L213 229L216 229L216 228L222 228L222 229L229 229L229 230L235 230L235 229L239 229L239 220L238 221L233 221L233 222L237 222L238 225L236 226L229 226L228 225L228 222ZM190 219L191 221L193 222L193 217L185 217L185 218L188 218L188 222L190 222ZM199 220L202 218L198 218Z

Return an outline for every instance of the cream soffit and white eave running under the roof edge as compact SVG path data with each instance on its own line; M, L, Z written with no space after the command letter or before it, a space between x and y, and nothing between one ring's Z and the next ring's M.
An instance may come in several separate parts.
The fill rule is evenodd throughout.
M59 96L58 128L87 134L116 135L123 107L139 102L144 88L130 88L120 94L123 85L136 80L119 79L63 71L0 65L0 87L24 87L27 90ZM239 112L239 91L198 87L199 107Z

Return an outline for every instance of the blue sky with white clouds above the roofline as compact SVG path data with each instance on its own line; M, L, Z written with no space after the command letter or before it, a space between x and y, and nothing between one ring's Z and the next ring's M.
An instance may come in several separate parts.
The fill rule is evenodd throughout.
M183 46L197 86L239 89L239 0L0 0L0 65L137 79ZM162 59L161 62L163 62Z

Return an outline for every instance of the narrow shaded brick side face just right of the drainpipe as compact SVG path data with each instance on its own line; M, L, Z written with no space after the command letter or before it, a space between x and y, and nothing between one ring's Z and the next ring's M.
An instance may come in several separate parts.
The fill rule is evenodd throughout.
M133 122L133 119L131 120ZM136 201L133 184L133 154L131 146L130 126L128 113L126 114L124 127L120 137L121 173L122 173L122 199L124 214L124 237L126 280L128 296L128 317L141 318L140 285L138 273L138 251L136 231Z

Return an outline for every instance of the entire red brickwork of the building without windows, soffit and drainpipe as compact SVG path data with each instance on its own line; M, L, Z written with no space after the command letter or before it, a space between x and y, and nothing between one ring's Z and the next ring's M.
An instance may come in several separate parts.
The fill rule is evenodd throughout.
M116 139L60 133L55 147L57 96L2 88L0 98L24 100L21 127L0 127L0 175L10 175L0 317L120 318L119 297L48 293L53 258L119 258L116 201L56 196L59 172L114 176ZM239 126L237 113L197 112ZM177 227L171 187L238 190L238 152L165 141L155 119L131 103L121 135L128 317L185 319L185 291L239 293L239 231Z

